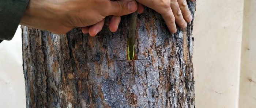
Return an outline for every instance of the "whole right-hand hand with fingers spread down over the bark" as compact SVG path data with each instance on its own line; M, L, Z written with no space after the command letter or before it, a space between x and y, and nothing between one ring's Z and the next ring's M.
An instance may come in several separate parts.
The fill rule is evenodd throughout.
M192 21L191 12L186 0L136 0L139 3L160 13L170 32L177 32L176 24L181 28L187 27L187 22ZM190 0L195 1L195 0ZM187 21L187 22L186 22Z

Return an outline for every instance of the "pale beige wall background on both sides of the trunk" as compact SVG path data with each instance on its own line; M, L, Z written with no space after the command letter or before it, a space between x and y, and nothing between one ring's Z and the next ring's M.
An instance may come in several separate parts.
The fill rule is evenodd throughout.
M196 108L256 108L256 0L197 0L196 9ZM20 27L0 44L0 108L26 107L21 45Z

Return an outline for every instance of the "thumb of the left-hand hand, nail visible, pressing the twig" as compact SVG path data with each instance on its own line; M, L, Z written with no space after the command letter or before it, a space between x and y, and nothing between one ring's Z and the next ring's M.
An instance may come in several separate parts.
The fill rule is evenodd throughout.
M135 0L118 0L111 1L110 15L123 16L133 13L137 10L138 5Z

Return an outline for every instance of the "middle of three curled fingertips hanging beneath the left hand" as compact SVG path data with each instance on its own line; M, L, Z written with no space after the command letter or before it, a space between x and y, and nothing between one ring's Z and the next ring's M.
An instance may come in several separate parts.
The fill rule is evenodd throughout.
M104 22L105 22L105 19L103 19L101 22L98 22L98 23L94 24L93 26L91 26L88 30L90 36L96 36L99 33L99 31L102 30L102 28L104 26ZM84 31L86 31L86 30L84 30Z

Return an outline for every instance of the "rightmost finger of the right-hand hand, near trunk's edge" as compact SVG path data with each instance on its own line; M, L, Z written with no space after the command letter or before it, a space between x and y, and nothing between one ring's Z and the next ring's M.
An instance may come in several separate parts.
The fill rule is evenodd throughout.
M193 18L192 18L190 10L188 8L187 1L186 0L177 0L177 2L179 4L179 6L180 6L183 18L187 22L191 22Z

